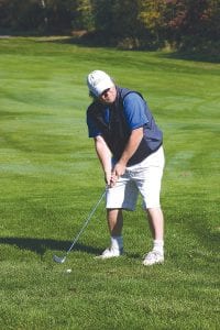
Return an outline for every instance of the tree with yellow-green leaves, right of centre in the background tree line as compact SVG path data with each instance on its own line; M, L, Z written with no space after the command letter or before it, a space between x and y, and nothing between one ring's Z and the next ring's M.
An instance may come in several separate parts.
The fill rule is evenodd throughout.
M165 0L94 0L96 31L106 43L158 48L164 44Z

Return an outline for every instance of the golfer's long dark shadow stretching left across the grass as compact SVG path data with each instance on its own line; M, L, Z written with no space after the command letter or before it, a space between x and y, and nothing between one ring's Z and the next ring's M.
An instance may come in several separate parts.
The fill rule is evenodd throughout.
M47 250L62 250L67 251L73 242L70 241L56 241L52 239L34 239L34 238L0 238L0 244L9 244L9 245L15 245L21 250L30 250L34 253L40 254L41 256L44 255L44 253ZM84 244L76 244L74 246L75 251L86 252L89 254L100 254L101 249L97 249L89 245Z

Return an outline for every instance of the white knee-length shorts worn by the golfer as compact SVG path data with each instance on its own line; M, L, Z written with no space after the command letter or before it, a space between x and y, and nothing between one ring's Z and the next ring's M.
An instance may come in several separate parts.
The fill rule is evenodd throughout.
M141 163L128 166L116 186L107 188L106 208L133 211L136 206L139 193L143 198L143 207L145 209L160 208L164 164L164 150L161 146Z

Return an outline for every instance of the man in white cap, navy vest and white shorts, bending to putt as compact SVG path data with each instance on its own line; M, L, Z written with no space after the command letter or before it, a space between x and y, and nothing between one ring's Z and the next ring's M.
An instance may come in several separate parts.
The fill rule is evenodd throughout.
M134 210L143 198L153 235L152 251L143 265L164 262L164 218L160 205L164 168L163 134L142 95L121 88L102 70L87 77L94 101L87 110L89 138L94 138L107 184L107 220L110 248L100 258L123 253L123 210Z

